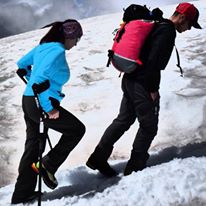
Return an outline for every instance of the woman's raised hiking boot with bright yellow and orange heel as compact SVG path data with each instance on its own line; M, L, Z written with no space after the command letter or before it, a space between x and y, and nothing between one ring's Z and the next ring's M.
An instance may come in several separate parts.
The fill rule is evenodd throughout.
M39 162L37 163L33 163L32 164L32 169L39 174ZM58 182L54 176L54 174L52 174L51 172L49 172L45 165L42 163L42 167L41 167L41 175L43 178L44 183L46 184L47 187L49 187L50 189L55 189L58 186Z

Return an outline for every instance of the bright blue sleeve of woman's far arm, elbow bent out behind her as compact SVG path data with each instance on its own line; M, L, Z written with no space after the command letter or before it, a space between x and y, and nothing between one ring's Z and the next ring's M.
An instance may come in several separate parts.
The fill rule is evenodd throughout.
M30 76L31 76L31 69L30 66L33 65L33 59L34 59L34 54L35 54L36 47L33 48L31 51L29 51L25 56L23 56L18 62L17 66L19 69L25 69L27 74L26 74L26 79L29 81Z

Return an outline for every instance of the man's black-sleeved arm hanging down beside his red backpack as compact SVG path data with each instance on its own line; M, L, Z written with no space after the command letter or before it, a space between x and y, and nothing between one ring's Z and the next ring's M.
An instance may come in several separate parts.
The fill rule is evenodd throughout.
M145 63L147 89L154 99L158 96L160 70L164 70L172 53L176 32L173 26L166 23L160 25L152 34L151 49Z

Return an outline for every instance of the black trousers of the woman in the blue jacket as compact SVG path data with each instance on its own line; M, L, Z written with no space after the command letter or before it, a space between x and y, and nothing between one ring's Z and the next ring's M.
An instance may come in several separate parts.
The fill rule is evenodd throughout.
M52 104L59 110L60 116L58 119L45 119L44 125L47 129L51 128L62 133L62 136L55 147L43 157L42 162L50 172L55 173L83 137L85 126L73 114L59 106L58 101L53 99ZM26 122L26 142L19 164L14 199L29 196L37 184L37 174L32 170L31 165L38 161L40 112L34 97L23 96L23 111ZM42 138L45 144L46 137Z

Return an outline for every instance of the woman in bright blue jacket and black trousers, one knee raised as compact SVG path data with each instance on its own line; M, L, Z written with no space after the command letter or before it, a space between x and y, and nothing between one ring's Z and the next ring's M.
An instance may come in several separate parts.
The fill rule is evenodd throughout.
M51 189L58 185L55 172L85 133L84 124L60 106L64 97L62 87L70 77L65 50L75 46L82 34L82 27L76 20L56 22L40 44L17 63L19 70L27 71L28 83L22 100L27 128L25 150L19 164L12 204L24 203L37 197L37 172L31 165L34 163L33 166L38 171L40 111L32 90L34 83L41 84L49 80L49 88L38 95L40 106L47 114L44 126L62 133L59 142L42 158L42 177Z

